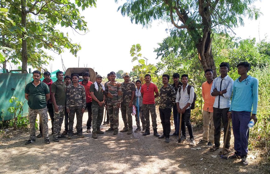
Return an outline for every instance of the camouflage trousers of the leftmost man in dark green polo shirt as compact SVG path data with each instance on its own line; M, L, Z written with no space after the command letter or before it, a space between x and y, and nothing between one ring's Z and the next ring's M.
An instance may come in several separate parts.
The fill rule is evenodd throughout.
M37 119L37 114L40 115L40 121L42 124L42 133L44 140L49 139L49 130L48 130L48 113L47 113L47 107L42 109L28 109L29 112L29 122L30 122L30 138L29 139L35 139L36 138L36 131L35 131L35 123Z

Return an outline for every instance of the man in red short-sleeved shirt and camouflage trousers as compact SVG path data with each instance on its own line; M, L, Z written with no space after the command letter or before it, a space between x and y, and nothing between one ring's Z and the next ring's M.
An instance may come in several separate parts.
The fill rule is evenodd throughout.
M152 119L152 126L154 130L154 135L159 137L157 133L157 124L156 124L156 105L155 98L159 96L157 86L151 82L151 75L147 74L144 76L145 84L142 85L141 94L142 94L142 107L145 114L145 126L146 131L142 135L150 135L150 114ZM155 92L155 94L154 94Z

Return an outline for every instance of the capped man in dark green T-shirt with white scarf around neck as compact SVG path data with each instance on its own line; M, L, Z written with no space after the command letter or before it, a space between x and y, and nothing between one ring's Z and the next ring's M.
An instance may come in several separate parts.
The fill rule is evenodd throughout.
M96 134L104 134L100 131L100 125L103 119L104 103L105 103L105 87L101 84L102 77L100 75L96 76L95 83L90 86L90 93L92 97L92 137L97 138Z

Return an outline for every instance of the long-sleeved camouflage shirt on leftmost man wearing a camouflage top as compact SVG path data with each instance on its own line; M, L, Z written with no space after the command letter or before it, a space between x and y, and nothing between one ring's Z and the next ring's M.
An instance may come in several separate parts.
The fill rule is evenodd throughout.
M66 108L73 106L86 108L85 89L80 84L77 87L74 87L73 84L67 86Z

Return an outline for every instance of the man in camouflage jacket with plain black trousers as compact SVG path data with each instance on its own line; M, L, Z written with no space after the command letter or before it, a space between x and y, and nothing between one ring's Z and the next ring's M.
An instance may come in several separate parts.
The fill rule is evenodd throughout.
M165 142L170 142L170 117L172 112L172 106L175 105L175 89L169 85L170 76L168 74L162 75L163 86L160 88L160 103L159 103L159 115L163 128L163 135L158 138L164 138Z

